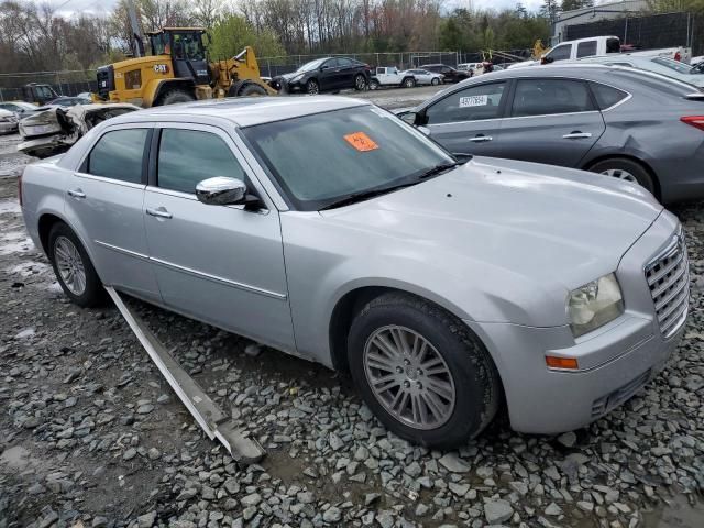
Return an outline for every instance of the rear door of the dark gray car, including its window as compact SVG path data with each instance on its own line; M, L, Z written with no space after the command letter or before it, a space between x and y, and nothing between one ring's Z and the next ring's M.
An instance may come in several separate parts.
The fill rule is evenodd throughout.
M518 79L502 127L503 155L579 167L605 130L585 81Z

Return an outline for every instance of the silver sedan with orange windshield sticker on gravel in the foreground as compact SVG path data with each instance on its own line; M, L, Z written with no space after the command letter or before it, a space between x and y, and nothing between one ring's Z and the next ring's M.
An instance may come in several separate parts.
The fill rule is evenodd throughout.
M132 112L20 189L74 302L109 285L349 371L429 447L504 402L518 431L583 427L662 369L688 316L681 227L642 187L455 157L353 99Z

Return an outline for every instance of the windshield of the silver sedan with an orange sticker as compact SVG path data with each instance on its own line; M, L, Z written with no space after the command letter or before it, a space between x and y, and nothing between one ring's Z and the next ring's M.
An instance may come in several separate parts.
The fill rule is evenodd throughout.
M242 133L296 209L304 211L414 185L435 167L455 162L396 117L371 106L260 124Z

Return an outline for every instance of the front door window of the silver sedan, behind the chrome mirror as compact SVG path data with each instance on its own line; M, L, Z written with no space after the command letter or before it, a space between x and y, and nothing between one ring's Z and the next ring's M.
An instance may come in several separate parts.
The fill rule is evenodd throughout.
M215 176L245 180L244 170L221 138L198 130L162 131L157 166L161 188L193 194L199 182Z

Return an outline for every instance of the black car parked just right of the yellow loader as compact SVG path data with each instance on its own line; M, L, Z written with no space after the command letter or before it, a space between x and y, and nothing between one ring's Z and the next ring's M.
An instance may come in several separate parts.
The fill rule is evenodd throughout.
M270 84L274 89L288 94L320 94L350 88L361 91L369 86L371 76L369 64L348 57L327 57L304 64L293 74L274 77Z

